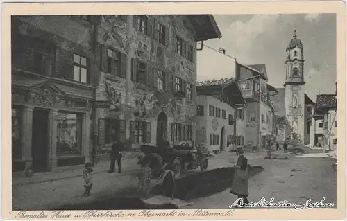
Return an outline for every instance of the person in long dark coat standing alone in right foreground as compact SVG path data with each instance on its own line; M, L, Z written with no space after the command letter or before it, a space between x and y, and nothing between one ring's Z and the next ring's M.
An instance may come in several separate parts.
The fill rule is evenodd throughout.
M230 188L230 193L242 198L244 203L248 203L248 159L244 157L244 149L237 148L236 154L239 156L234 170L234 179Z

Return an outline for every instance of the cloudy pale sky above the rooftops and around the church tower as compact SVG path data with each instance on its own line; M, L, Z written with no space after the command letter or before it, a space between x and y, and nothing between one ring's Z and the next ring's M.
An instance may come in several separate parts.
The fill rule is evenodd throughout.
M316 94L334 94L336 81L336 15L214 15L221 39L203 42L242 64L266 64L269 84L283 87L286 46L296 30L303 42L305 92L316 100ZM200 45L198 45L199 47ZM197 80L232 77L232 58L203 47L197 55ZM235 62L235 60L234 60Z

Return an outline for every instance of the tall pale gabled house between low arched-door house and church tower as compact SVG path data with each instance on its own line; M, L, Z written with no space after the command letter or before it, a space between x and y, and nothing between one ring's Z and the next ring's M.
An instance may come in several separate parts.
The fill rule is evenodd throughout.
M266 140L273 136L271 96L276 94L276 89L267 83L265 64L237 63L237 81L247 103L245 145L265 148Z

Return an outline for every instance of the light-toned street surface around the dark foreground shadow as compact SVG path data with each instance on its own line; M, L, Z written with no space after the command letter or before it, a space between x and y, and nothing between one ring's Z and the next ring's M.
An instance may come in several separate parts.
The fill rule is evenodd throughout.
M248 182L249 199L257 202L262 197L270 200L305 202L306 198L336 203L336 175L332 171L332 159L290 157L287 160L264 159L265 153L246 153L249 164L263 166L264 172L251 177ZM208 170L233 166L235 153L223 153L209 159ZM83 177L71 177L51 182L13 186L14 210L54 209L66 204L81 204L110 197L129 194L127 190L137 185L137 165L126 168L124 173L107 173L105 170L92 177L94 185L91 197L83 197ZM292 172L292 169L300 170ZM197 173L198 170L185 173ZM81 171L82 173L82 171ZM130 193L131 194L131 193ZM189 208L228 208L236 200L229 190L202 199L196 199ZM91 208L92 209L92 208Z

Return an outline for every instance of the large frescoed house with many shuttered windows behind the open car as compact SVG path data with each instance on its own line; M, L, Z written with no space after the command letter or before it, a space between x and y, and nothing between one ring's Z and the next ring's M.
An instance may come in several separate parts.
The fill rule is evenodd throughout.
M96 109L99 150L115 134L132 148L192 143L196 42L219 37L212 15L103 16L96 100L111 106Z

